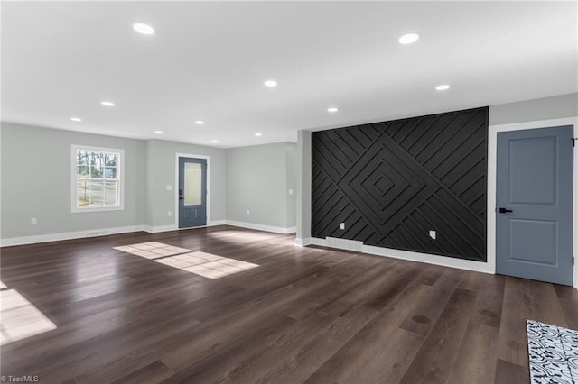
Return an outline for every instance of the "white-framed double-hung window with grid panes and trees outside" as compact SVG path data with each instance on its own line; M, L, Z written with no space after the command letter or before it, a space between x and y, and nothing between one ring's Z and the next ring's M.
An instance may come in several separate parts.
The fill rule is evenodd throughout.
M72 212L124 208L125 151L72 145Z

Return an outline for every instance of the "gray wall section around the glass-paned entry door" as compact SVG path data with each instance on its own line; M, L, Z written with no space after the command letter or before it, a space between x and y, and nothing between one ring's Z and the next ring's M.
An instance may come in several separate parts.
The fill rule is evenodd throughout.
M227 151L219 148L150 140L147 142L147 195L150 210L147 225L164 226L175 224L176 191L176 154L209 156L209 222L225 220L227 196ZM166 186L172 186L171 191ZM167 215L172 211L172 216Z

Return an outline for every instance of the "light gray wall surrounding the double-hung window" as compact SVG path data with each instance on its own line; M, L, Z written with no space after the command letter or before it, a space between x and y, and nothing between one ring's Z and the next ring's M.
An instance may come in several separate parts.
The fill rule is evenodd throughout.
M144 224L143 141L12 123L2 123L0 135L2 238ZM125 151L124 210L70 212L72 144Z

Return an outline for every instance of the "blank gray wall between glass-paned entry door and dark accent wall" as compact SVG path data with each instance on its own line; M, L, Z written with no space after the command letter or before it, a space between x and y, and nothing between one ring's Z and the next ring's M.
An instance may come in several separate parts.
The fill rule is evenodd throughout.
M228 150L228 220L294 226L295 198L288 193L296 182L290 169L294 165L288 165L296 161L294 147L293 143L278 142Z

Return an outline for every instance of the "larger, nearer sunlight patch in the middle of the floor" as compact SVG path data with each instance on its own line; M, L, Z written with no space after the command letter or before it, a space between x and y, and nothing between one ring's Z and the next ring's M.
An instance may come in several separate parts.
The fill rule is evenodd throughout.
M179 270L186 270L209 279L219 279L258 267L257 264L251 262L228 259L200 251L158 259L155 262L178 268Z

